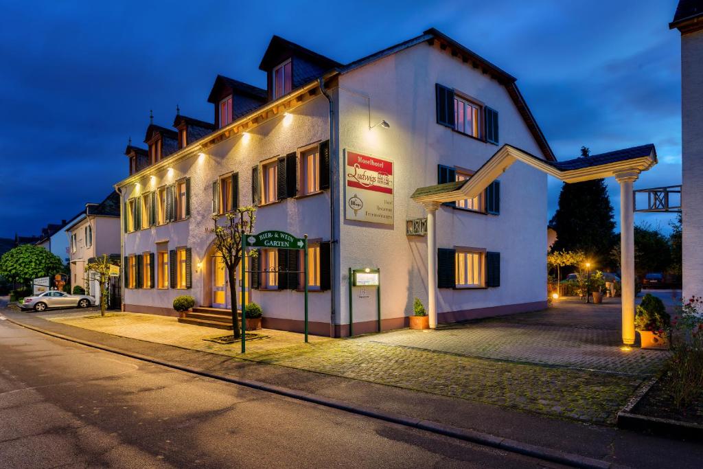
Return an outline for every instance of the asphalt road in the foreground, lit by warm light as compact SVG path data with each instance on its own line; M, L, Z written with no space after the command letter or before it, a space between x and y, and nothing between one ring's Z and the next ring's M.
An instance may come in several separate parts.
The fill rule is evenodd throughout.
M0 318L0 468L557 467Z

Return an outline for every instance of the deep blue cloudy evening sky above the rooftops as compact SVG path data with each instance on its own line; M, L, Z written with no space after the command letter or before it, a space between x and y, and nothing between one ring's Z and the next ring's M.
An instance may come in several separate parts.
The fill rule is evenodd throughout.
M437 27L518 79L557 158L654 143L636 188L681 182L676 0L0 0L0 236L38 234L127 175L129 136L176 104L212 121L214 77L265 87L272 34L342 63ZM561 183L550 180L549 216ZM608 181L619 218L617 183ZM638 214L668 231L671 216Z

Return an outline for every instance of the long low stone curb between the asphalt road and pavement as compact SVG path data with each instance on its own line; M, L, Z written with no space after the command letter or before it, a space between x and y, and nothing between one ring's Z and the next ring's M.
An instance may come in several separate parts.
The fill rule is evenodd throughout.
M396 423L398 425L404 425L411 428L418 428L420 430L436 433L438 435L462 439L466 442L481 444L483 446L490 446L492 448L502 449L503 451L510 451L512 453L522 454L524 456L531 456L534 458L542 459L543 461L551 461L553 463L560 463L570 465L574 468L584 469L610 469L616 467L614 464L609 463L607 461L602 461L600 459L588 458L586 456L567 453L565 451L559 451L557 449L550 449L543 446L536 446L534 444L522 443L513 439L496 437L495 435L491 435L489 433L477 432L475 430L467 430L464 428L454 427L452 425L444 425L443 423L433 422L431 420L422 420L419 418L401 416L396 413L389 413L377 409L371 409L370 407L366 406L357 406L344 401L340 401L339 399L332 399L330 397L323 397L318 394L311 394L309 392L292 390L288 387L269 385L266 383L262 383L261 381L247 380L246 378L234 378L228 375L220 375L217 373L206 371L202 368L194 368L192 366L176 364L170 361L156 359L152 356L138 354L135 352L127 352L126 350L116 349L108 345L102 345L96 342L90 342L88 340L72 338L68 335L55 333L51 330L42 329L37 326L31 326L30 324L22 323L7 316L5 317L7 321L17 326L34 330L35 332L44 335L50 335L54 338L67 340L69 342L74 342L80 345L85 345L86 347L92 347L94 349L104 350L105 352L128 356L132 359L146 361L148 363L160 366L166 366L168 368L184 371L186 373L204 376L205 378L212 378L214 380L225 381L227 383L250 387L255 390L271 392L280 396L310 402L311 404L318 404L321 406L330 407L332 409L356 413L361 416L376 418L378 420L384 420L389 423Z

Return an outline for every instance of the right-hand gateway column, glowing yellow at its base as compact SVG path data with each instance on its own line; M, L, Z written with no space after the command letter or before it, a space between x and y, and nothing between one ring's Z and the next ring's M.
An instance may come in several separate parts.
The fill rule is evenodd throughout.
M635 343L635 207L632 184L638 172L615 174L620 184L620 269L622 285L622 342Z

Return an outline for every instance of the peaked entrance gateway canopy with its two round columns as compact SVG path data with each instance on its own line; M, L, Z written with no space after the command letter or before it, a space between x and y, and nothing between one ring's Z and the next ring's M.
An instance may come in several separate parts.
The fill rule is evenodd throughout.
M510 165L521 161L566 183L613 176L620 184L620 246L622 282L622 341L635 342L635 238L633 182L657 164L657 151L648 144L567 161L546 161L505 144L469 179L421 187L411 198L427 211L427 309L430 328L437 327L437 236L435 215L439 205L475 198ZM557 235L558 236L558 235Z

